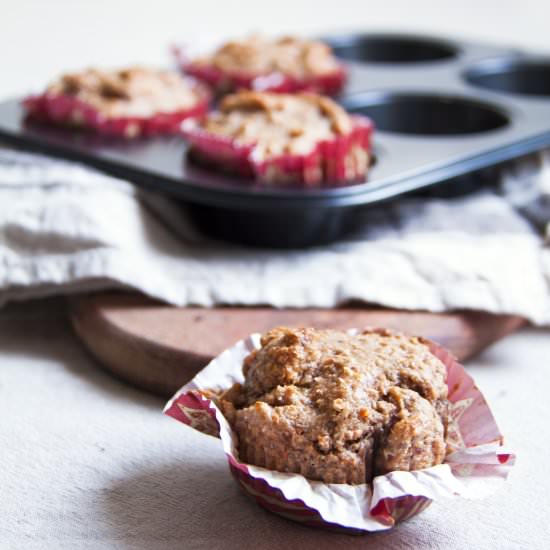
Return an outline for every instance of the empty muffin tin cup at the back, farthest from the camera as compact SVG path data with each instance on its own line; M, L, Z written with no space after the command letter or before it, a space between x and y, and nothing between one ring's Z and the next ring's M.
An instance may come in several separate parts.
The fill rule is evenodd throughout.
M422 63L451 59L458 48L437 38L392 34L355 34L327 37L340 59L365 63Z

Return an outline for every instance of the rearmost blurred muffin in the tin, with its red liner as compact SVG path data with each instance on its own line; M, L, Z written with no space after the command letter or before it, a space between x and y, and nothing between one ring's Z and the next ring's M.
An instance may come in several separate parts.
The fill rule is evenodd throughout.
M227 42L211 55L192 60L180 50L175 53L186 73L219 93L244 88L336 95L346 80L346 72L330 46L319 40L250 36Z

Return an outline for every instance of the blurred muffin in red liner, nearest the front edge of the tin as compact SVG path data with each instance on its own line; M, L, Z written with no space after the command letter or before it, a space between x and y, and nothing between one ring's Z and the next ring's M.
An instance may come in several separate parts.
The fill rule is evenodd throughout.
M182 125L191 157L267 184L346 184L364 180L369 119L312 93L242 91L219 110Z

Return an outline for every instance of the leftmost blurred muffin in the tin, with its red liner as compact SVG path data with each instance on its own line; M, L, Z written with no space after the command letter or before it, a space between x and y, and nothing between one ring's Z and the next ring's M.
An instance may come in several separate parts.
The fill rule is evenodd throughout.
M24 101L29 118L101 134L175 134L182 120L206 113L206 89L180 75L143 67L68 73Z

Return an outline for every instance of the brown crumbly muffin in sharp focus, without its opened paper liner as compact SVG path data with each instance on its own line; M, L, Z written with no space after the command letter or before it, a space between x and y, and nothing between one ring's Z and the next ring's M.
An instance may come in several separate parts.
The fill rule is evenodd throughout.
M261 344L217 400L242 461L360 484L445 459L446 368L422 339L281 327Z

